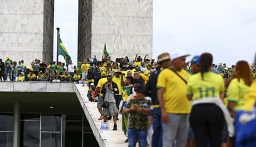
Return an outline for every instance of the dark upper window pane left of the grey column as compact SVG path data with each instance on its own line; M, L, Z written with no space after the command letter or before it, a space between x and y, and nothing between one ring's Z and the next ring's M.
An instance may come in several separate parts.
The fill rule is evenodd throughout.
M13 114L0 113L0 131L13 131Z

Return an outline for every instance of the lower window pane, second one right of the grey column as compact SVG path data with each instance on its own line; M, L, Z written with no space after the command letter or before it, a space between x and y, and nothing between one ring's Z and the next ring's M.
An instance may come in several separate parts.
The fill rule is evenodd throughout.
M61 133L42 132L41 147L61 147Z

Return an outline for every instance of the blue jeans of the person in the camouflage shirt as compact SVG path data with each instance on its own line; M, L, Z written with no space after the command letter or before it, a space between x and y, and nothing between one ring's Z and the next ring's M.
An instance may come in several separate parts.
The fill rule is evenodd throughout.
M128 147L136 147L137 141L139 141L139 147L147 147L147 135L146 130L136 130L128 128Z

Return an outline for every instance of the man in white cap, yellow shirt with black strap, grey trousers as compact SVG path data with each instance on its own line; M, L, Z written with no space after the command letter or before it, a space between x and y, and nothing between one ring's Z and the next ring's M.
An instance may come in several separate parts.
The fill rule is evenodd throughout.
M183 68L186 57L182 50L171 54L171 68L160 72L157 79L157 96L161 108L163 147L184 147L188 132L189 101L186 98L186 82L190 74Z

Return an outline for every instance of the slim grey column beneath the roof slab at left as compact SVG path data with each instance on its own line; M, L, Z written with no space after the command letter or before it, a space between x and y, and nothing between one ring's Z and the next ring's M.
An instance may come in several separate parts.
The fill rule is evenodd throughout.
M20 104L14 102L14 129L13 129L13 147L20 147Z

